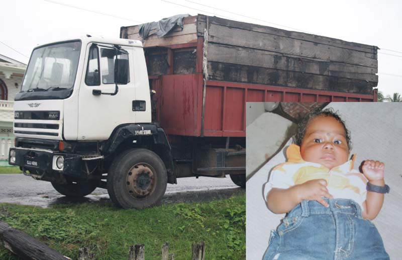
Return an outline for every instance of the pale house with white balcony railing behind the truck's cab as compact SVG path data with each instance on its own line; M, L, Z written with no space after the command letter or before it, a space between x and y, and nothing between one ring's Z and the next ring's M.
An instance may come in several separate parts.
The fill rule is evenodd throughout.
M14 146L14 97L21 89L27 65L0 54L0 166L8 166Z

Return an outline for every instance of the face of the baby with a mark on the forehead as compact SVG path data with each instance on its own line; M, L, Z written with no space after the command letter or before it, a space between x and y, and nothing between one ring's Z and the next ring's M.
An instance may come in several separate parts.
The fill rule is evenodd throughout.
M300 153L305 161L317 162L329 169L345 163L349 158L349 147L342 124L331 116L312 119L307 125Z

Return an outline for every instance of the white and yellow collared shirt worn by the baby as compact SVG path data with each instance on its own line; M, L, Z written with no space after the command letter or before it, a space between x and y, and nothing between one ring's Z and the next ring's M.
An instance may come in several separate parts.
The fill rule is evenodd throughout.
M324 179L328 192L334 199L351 199L363 209L366 200L367 179L358 170L353 169L354 158L342 165L329 169L320 163L305 161L300 154L300 147L291 144L286 149L287 161L275 166L264 187L264 198L272 188L288 189L307 181Z

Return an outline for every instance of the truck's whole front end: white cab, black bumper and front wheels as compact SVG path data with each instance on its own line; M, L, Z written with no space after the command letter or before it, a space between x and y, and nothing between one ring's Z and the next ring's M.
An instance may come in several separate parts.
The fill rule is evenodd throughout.
M87 35L36 47L14 109L9 163L65 196L100 187L117 206L144 208L176 183L167 137L151 123L140 41Z

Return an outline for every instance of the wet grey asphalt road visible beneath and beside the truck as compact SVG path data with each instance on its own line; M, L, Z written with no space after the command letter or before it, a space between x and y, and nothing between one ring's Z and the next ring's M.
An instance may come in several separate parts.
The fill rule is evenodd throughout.
M245 193L227 178L195 177L177 179L178 184L168 184L162 203L202 202L228 198ZM15 203L49 207L65 203L104 203L109 195L106 189L97 188L84 198L67 198L54 190L49 182L37 181L22 174L0 174L0 203Z

